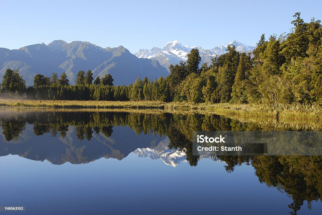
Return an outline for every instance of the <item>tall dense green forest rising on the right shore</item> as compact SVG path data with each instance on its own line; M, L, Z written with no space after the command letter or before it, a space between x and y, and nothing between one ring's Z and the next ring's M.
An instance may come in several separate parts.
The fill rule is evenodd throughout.
M314 19L305 23L300 13L294 17L295 28L291 33L278 38L272 35L268 41L262 35L252 53L239 53L228 46L228 53L214 57L212 65L204 64L197 72L191 72L191 67L184 63L170 66L168 80L174 99L321 103L321 24Z

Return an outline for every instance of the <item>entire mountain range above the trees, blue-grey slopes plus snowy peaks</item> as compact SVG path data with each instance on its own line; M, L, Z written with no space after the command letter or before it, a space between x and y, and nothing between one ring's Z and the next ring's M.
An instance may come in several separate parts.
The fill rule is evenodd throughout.
M255 48L236 40L228 45L234 45L239 52L251 52ZM150 80L166 77L170 72L169 65L186 61L192 48L199 50L202 65L211 63L213 56L227 53L227 46L204 49L182 45L175 40L162 48L140 49L134 55L123 46L102 48L83 41L67 43L54 40L48 45L41 43L13 50L0 48L0 82L8 68L18 69L27 86L33 85L33 77L37 73L45 76L57 73L60 76L65 72L70 84L74 84L78 71L90 69L94 78L102 78L109 73L115 85L128 85L137 76Z

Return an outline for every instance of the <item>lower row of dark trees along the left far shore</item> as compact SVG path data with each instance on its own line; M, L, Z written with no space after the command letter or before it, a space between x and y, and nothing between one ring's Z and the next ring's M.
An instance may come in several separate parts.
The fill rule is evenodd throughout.
M57 73L47 77L36 74L33 86L26 87L23 77L18 70L7 69L1 83L1 95L19 95L26 99L53 99L53 100L106 100L106 101L171 101L169 86L166 79L160 77L154 82L145 77L140 77L130 84L114 85L110 74L102 79L97 76L94 80L93 73L88 70L79 71L75 85L70 85L66 73L58 77Z

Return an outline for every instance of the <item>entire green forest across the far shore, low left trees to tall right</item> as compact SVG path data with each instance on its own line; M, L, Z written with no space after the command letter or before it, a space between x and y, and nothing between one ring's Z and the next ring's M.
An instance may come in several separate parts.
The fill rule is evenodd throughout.
M26 87L18 70L7 69L1 83L1 97L53 100L188 101L194 103L322 103L322 25L320 20L304 22L295 13L291 32L263 34L252 53L239 53L228 46L227 53L202 64L198 49L187 62L170 65L170 74L159 79L137 80L114 86L107 74L95 80L90 70L79 71L75 85L67 75L37 74Z

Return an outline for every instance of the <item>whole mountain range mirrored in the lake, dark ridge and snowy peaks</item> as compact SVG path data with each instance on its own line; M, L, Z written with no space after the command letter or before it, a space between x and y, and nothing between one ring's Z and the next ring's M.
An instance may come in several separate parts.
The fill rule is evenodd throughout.
M24 131L17 140L7 142L0 127L0 156L16 154L32 160L48 160L52 164L61 165L66 162L71 164L89 163L100 158L124 159L130 153L138 157L150 157L153 160L161 159L166 165L176 167L182 162L187 162L186 154L179 149L169 149L168 137L143 135L139 136L128 126L113 127L110 137L93 133L90 142L80 141L76 137L74 126L68 127L65 138L59 134L57 137L50 133L36 136L31 124L25 125ZM200 159L221 160L201 156Z

